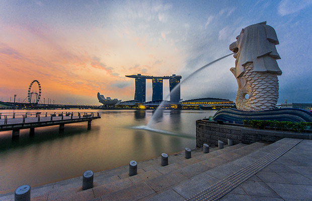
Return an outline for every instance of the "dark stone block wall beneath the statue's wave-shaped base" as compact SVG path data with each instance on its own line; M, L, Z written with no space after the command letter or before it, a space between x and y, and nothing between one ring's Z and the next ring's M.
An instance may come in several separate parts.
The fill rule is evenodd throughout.
M246 128L238 124L218 124L205 120L196 121L196 146L202 147L204 143L218 145L218 140L227 144L227 139L233 144L252 144L258 141L276 142L282 138L312 139L311 133L295 133L285 131L263 130Z

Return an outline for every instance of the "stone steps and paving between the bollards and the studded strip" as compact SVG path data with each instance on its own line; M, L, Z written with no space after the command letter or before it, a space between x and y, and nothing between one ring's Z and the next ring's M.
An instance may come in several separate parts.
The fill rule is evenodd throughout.
M190 159L182 151L170 155L167 166L161 166L161 157L138 162L137 175L131 177L126 165L94 173L91 189L82 190L82 177L76 177L33 187L31 197L32 200L162 200L166 195L164 199L184 200L264 156L267 152L263 148L267 145L256 142L224 149L214 147L206 154L197 148L192 150ZM0 196L0 200L14 200L14 194Z

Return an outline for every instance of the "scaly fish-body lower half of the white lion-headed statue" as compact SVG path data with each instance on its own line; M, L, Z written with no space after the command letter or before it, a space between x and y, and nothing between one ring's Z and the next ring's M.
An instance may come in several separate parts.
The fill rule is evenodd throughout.
M241 111L273 110L278 99L277 75L255 72L253 67L252 62L247 64L243 76L238 78L238 82L244 85L237 92L236 107Z

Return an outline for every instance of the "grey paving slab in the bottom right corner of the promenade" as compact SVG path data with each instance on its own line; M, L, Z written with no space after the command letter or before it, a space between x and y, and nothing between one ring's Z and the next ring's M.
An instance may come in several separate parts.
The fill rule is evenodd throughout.
M296 198L303 200L311 200L312 197L311 185L296 185L285 183L267 183L267 184L283 199Z

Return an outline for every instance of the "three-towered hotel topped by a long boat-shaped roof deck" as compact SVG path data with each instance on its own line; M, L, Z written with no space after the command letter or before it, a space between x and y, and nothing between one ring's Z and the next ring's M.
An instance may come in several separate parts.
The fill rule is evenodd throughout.
M180 80L181 75L171 76L148 76L148 75L126 75L126 77L135 78L135 93L134 100L140 103L145 103L145 92L146 92L146 79L152 80L152 98L151 100L163 100L163 80L169 79L170 87L170 101L173 103L179 103L180 101ZM177 86L178 85L178 86ZM175 88L177 86L177 88ZM174 90L173 90L174 89Z

